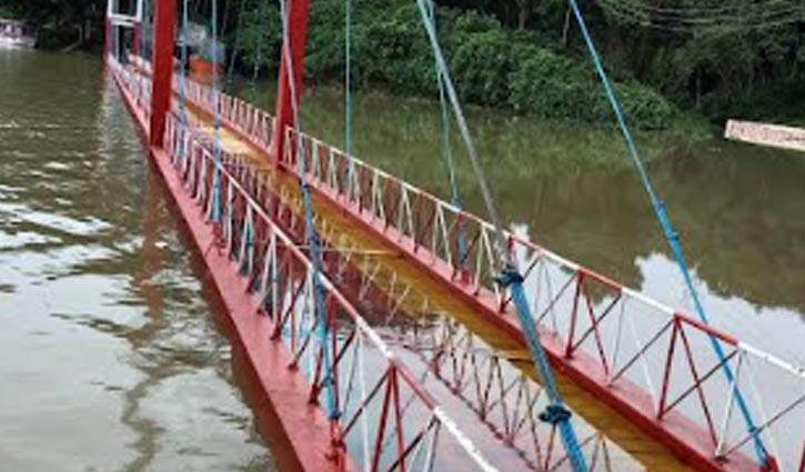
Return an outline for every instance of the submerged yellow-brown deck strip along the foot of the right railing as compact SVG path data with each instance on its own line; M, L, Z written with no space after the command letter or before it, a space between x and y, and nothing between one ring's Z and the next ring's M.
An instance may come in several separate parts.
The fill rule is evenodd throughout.
M210 117L199 109L192 109L191 113L195 120L203 123L202 129L209 135L212 135ZM221 128L220 137L222 148L249 158L252 165L271 175L272 182L276 185L272 191L286 194L289 198L299 201L300 185L298 179L285 172L278 171L274 165L269 163L271 158L263 150L244 142L225 127ZM491 349L503 353L504 356L509 356L517 369L525 372L531 379L537 380L537 373L532 362L527 360L527 352L523 350L520 342L483 317L477 315L473 307L453 297L426 271L401 258L393 245L355 224L352 218L343 209L333 204L332 201L314 193L313 203L318 213L318 223L320 227L326 227L328 229L328 239L336 241L342 249L372 254L371 259L376 264L359 264L359 268L365 270L365 268L370 267L372 271L378 271L378 268L380 268L374 281L381 287L385 285L383 289L386 294L396 292L392 293L392 297L400 301L401 291L389 287L389 281L392 278L396 279L395 285L411 288L411 291L401 301L403 312L409 315L416 314L424 305L427 307L427 311L431 313L439 313L457 320L483 339ZM662 443L647 436L626 418L602 403L600 399L585 391L570 378L557 372L557 381L570 408L617 446L622 448L626 454L643 464L646 470L691 470L680 462ZM618 454L613 453L613 451L611 451L611 454L613 460L612 470L626 471L634 469L634 464L628 458L623 454L620 454L618 458Z

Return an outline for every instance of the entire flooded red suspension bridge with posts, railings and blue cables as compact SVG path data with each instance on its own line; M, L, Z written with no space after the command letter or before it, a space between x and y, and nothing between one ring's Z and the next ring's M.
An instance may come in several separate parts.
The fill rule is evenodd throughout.
M442 199L352 155L349 135L342 151L302 130L310 0L280 4L273 116L217 72L187 77L187 2L158 0L143 38L143 0L110 0L104 58L245 352L282 470L805 472L805 371L707 323L574 0L693 315L501 228L430 1L444 122L489 218L455 185Z

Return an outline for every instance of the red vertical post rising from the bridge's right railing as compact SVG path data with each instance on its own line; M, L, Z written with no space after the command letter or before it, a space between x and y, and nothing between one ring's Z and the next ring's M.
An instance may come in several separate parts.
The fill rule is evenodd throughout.
M291 50L291 62L293 67L293 83L295 101L300 103L302 93L302 78L304 77L304 44L308 40L308 13L310 0L288 0L288 38L290 47L283 44L282 60L280 63L280 77L276 86L276 117L274 135L271 141L271 157L274 162L280 162L285 149L285 129L294 127L293 107L291 103L291 84L289 81L288 59L285 54Z

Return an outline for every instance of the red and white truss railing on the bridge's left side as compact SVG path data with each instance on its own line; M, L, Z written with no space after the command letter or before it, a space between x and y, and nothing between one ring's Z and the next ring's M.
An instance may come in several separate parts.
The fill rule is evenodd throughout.
M167 149L187 190L201 211L210 214L213 199L213 153L171 117ZM233 157L223 152L222 161ZM332 421L334 449L363 470L484 470L492 468L394 355L381 337L326 279L316 287L303 252L265 214L241 184L220 164L223 218L210 223L218 250L232 260L233 274L249 281L273 321L272 339L293 356L310 383L311 402L323 401L325 382L335 391L339 418ZM314 292L324 292L328 339L314 333ZM255 314L256 315L256 314ZM334 352L333 378L324 378L325 343ZM344 460L348 461L346 459Z

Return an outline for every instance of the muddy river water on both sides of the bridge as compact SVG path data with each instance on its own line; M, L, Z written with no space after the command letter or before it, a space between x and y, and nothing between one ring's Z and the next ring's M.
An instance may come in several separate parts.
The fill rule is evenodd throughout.
M319 89L304 103L305 131L343 142L341 94ZM447 194L439 117L431 102L362 94L355 153ZM507 224L690 304L612 129L483 110L470 120ZM638 141L714 322L805 364L805 157ZM480 212L456 159L464 203ZM179 228L99 60L0 51L3 469L273 469Z

